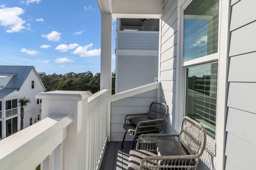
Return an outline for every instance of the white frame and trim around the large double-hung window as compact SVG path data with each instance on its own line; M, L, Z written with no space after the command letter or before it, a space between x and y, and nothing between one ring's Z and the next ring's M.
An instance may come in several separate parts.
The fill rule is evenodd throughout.
M183 32L183 10L185 9L191 0L179 0L178 1L178 33L177 33L177 72L176 72L176 97L175 97L175 127L176 131L179 131L181 126L181 120L185 115L183 99L185 98L185 69L182 67L192 66L196 63L199 64L201 61L207 63L204 57L199 59L191 60L182 63L181 51L183 52L183 37L181 32ZM228 92L228 63L229 63L229 22L230 22L230 1L220 0L219 2L219 37L218 37L218 54L217 56L210 56L209 62L218 61L218 88L217 88L217 122L216 122L216 159L215 168L223 169L225 167L225 141L226 141L226 118L227 118L227 92ZM214 54L213 54L214 55ZM222 56L222 57L219 57ZM219 58L218 58L219 57ZM199 60L199 61L196 61ZM220 113L220 114L218 114Z

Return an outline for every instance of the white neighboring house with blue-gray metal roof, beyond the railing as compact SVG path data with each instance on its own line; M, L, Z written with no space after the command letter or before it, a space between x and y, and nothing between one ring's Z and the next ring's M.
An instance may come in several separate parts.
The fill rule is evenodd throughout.
M20 98L29 98L24 128L41 120L41 99L45 88L34 66L0 66L0 139L20 130Z

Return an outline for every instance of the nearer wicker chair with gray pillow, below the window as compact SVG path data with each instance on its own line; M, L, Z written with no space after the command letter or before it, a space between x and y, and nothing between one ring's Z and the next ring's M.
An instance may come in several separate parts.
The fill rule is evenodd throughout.
M181 150L185 154L159 156L159 152L157 152L159 144L157 143L163 143L164 141L179 142L181 144ZM206 133L204 127L191 118L184 117L180 133L178 134L140 135L137 142L137 149L130 151L128 170L194 170L197 167L199 157L202 156L205 150L205 146ZM166 146L164 146L164 149L167 150Z

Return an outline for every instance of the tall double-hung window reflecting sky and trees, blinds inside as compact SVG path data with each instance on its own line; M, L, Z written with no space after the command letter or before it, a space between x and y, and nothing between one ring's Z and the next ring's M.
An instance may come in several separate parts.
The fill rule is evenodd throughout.
M193 0L183 9L184 113L204 126L207 137L215 139L219 0Z

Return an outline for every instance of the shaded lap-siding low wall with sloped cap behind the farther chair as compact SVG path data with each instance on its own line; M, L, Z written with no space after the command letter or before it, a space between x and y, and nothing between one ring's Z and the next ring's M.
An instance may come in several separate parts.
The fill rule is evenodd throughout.
M111 103L111 141L122 141L124 117L127 114L148 113L152 102L157 101L157 89ZM126 135L126 141L133 138Z

